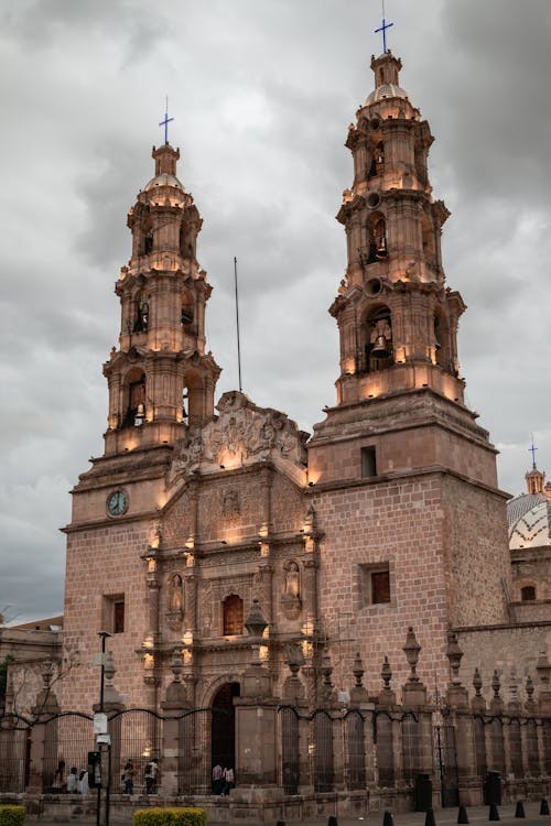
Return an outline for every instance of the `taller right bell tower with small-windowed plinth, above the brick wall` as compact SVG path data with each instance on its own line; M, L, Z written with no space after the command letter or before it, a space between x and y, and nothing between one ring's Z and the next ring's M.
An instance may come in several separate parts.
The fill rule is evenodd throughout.
M442 267L450 213L432 195L433 137L399 85L401 61L387 51L371 58L371 69L375 89L348 127L354 180L337 214L347 243L345 275L329 308L341 340L337 405L315 426L311 476L353 472L326 464L317 450L346 423L349 437L369 434L377 442L377 472L442 464L495 487L495 450L464 404L457 327L466 307L446 286ZM422 448L412 428L422 428ZM465 439L469 449L476 446L476 460L467 458Z

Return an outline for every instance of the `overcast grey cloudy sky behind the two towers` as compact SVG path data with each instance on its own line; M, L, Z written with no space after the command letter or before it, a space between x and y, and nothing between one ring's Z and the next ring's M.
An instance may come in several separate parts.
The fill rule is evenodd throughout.
M551 475L551 3L387 0L401 85L436 141L450 285L468 305L468 404L523 489L533 432ZM169 96L179 175L203 215L209 348L237 385L305 430L335 400L326 309L345 268L343 143L372 88L379 0L4 0L0 7L0 611L62 610L68 490L102 452L101 363L126 214L152 176Z

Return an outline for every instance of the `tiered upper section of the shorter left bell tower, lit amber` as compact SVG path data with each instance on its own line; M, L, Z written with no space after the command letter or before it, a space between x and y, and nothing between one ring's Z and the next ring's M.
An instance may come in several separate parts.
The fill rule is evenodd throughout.
M205 354L212 287L196 258L202 218L176 177L180 150L153 148L154 177L128 214L132 257L115 285L119 348L104 365L109 384L106 456L172 445L214 413L219 368Z

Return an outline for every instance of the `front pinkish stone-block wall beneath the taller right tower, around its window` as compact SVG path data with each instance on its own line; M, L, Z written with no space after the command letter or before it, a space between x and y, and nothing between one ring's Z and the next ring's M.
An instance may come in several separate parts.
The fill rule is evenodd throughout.
M447 682L446 582L442 477L426 474L392 482L356 483L314 496L321 542L318 605L332 639L333 682L349 687L359 651L370 693L380 689L388 654L393 686L408 666L402 646L408 626L422 645L419 674L428 686ZM372 605L365 589L369 566L388 564L389 604ZM363 567L364 566L364 567Z

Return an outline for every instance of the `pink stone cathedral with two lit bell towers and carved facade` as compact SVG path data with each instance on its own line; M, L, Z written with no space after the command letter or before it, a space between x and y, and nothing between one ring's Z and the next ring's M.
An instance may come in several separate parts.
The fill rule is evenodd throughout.
M97 703L93 662L107 632L112 708L161 715L179 698L181 708L225 710L228 721L210 729L209 763L234 764L237 787L268 786L282 765L284 775L290 763L269 722L282 704L390 708L392 678L404 706L437 705L451 691L471 708L461 705L460 663L463 684L475 674L478 711L493 672L495 704L496 675L511 667L520 678L538 669L549 682L550 618L532 582L547 573L532 565L527 574L527 552L511 567L497 452L464 400L466 307L444 274L450 214L430 184L433 137L400 86L401 61L386 51L371 69L374 89L346 135L353 180L336 216L346 271L329 307L339 334L335 404L311 435L240 391L216 401L220 367L205 336L212 286L197 258L203 218L179 177L179 150L153 148L154 175L128 213L131 258L115 285L120 334L104 365L105 453L73 489L64 529L72 667L56 684L60 708L88 713ZM538 474L527 477L536 486L527 501L514 500L517 540L530 509L548 513ZM527 692L533 710L533 685ZM255 703L263 728L247 716ZM388 736L396 750L398 735ZM324 737L309 741L306 758ZM255 742L272 749L271 763L257 753L251 768ZM496 748L480 758L480 776L501 760ZM551 735L549 749L547 774ZM523 771L536 773L530 753ZM383 753L375 768L370 759L364 785L369 772L378 785L396 785L399 772L413 780L406 759L387 775ZM415 767L431 772L432 757ZM302 787L302 770L296 782L283 776L288 793ZM465 778L464 800L475 801ZM327 791L324 782L314 790Z

